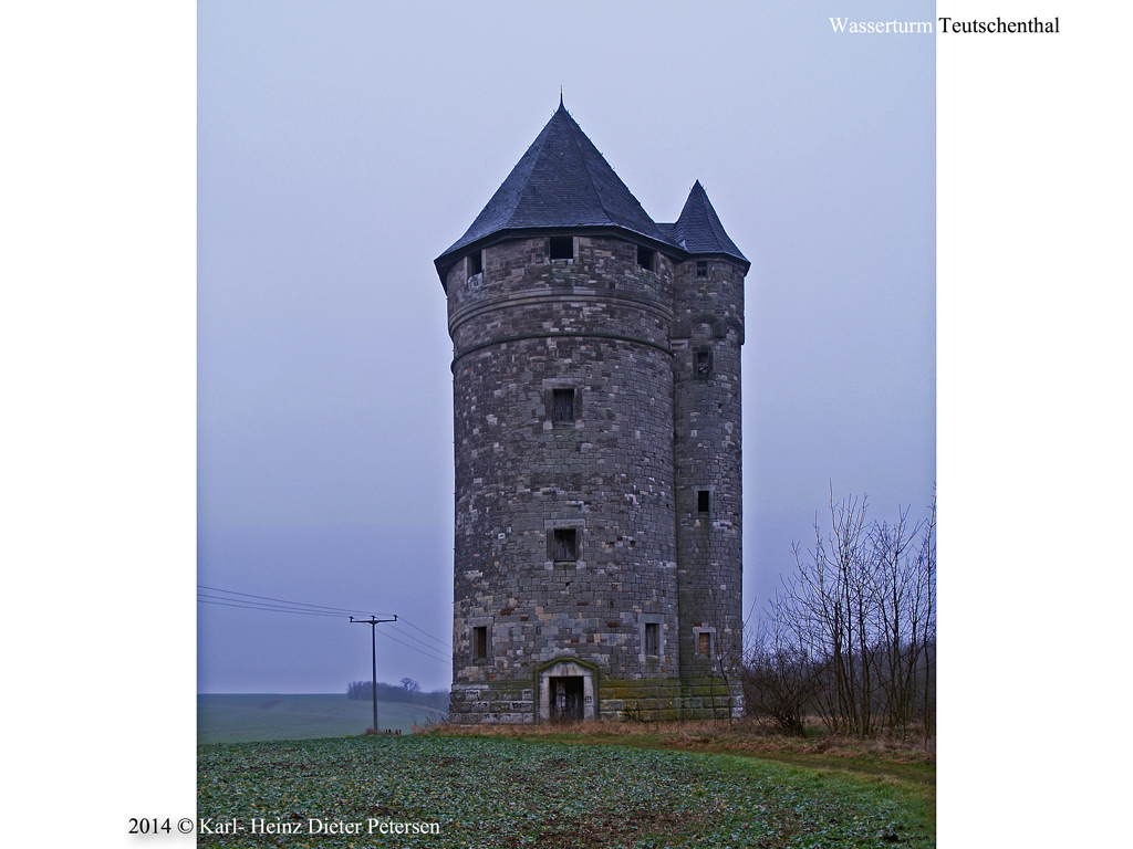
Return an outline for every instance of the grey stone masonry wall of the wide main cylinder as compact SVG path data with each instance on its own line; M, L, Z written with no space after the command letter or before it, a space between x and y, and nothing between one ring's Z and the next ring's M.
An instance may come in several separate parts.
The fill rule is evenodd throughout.
M546 246L491 246L479 274L462 260L448 280L455 721L534 721L537 668L555 658L594 666L599 713L616 710L614 681L679 676L673 267L641 268L613 238L574 237L570 260ZM553 420L554 389L573 391L574 421ZM556 529L574 532L576 559L555 559Z

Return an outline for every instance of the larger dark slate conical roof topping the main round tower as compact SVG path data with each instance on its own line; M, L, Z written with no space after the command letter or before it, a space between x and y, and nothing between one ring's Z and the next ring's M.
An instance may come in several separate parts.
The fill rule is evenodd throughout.
M445 272L475 242L501 231L616 228L671 243L563 105L527 148L468 231L436 259Z

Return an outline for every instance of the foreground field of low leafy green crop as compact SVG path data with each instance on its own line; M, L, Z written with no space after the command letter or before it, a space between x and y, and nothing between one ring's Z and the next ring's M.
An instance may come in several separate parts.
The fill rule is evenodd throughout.
M900 783L624 746L433 736L205 745L197 797L201 846L935 846L930 806ZM267 833L252 833L257 823ZM382 833L415 823L438 833Z

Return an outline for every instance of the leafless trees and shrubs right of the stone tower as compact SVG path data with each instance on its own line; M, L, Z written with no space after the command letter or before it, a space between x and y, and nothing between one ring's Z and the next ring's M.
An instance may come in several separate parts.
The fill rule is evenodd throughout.
M766 610L747 661L757 711L801 730L806 711L832 731L905 734L935 724L936 498L913 524L868 523L867 499L829 501L815 546ZM919 544L918 544L918 537Z

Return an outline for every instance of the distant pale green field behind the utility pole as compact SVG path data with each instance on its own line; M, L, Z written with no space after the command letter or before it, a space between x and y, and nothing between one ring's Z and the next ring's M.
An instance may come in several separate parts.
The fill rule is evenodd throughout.
M245 743L253 740L304 740L358 735L369 728L374 709L369 701L346 695L198 695L197 741ZM394 702L377 703L382 730L409 734L415 724L435 720L432 707Z

